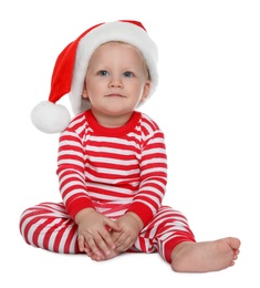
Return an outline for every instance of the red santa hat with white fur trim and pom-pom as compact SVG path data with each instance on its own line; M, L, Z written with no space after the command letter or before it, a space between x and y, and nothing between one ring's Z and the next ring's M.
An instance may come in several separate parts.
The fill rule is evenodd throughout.
M136 47L144 55L149 74L150 91L158 83L157 47L144 25L138 21L121 20L100 23L87 29L75 41L71 42L58 56L48 101L40 102L31 112L32 123L42 132L62 132L71 121L64 105L56 104L69 94L74 114L90 109L90 102L82 97L83 84L89 61L94 51L103 43L123 41Z

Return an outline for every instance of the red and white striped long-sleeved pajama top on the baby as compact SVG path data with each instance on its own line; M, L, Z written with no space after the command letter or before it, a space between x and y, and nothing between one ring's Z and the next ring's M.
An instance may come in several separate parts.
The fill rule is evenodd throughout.
M72 218L93 207L112 218L133 212L146 225L165 195L164 134L141 112L134 112L124 126L108 128L87 110L61 133L56 173Z

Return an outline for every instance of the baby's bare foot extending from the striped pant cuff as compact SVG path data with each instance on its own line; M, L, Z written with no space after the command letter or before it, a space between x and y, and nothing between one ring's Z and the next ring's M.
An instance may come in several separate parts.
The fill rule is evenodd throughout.
M181 243L171 251L171 268L178 272L209 272L235 265L240 240L227 237L214 241Z

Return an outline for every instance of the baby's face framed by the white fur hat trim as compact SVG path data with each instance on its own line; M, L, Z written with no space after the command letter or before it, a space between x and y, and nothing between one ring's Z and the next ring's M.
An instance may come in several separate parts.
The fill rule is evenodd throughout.
M98 47L90 60L83 97L98 113L128 115L148 95L149 86L141 52L126 43L108 42Z

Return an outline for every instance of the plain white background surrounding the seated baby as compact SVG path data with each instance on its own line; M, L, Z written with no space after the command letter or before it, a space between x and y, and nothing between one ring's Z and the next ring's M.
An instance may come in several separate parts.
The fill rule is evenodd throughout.
M259 1L10 0L0 6L0 286L260 287ZM142 111L165 132L164 204L187 216L197 240L239 237L241 253L232 268L177 274L157 254L94 263L33 248L20 236L25 208L60 200L58 135L34 128L31 109L48 99L61 50L91 25L118 19L142 21L159 49L159 88Z

